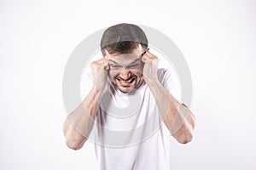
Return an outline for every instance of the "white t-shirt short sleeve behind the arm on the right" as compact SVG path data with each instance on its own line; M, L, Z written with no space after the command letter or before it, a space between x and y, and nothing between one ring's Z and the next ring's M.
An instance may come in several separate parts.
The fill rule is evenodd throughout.
M158 70L158 77L164 88L166 88L170 94L180 102L182 91L177 73L173 70L161 68Z

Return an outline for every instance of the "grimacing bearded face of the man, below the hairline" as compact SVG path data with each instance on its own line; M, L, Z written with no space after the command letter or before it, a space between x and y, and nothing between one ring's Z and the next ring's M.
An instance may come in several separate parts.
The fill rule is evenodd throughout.
M123 93L129 93L143 82L143 61L140 50L131 54L110 55L108 77Z

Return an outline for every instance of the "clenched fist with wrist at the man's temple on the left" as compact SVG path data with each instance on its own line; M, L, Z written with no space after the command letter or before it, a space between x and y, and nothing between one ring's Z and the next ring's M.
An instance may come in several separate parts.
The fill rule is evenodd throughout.
M108 81L108 58L103 57L102 59L93 61L90 64L90 68L93 75L94 88L97 92L102 92Z

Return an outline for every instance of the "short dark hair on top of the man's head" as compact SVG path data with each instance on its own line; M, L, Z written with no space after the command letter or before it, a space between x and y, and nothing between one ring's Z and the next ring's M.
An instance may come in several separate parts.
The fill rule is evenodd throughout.
M148 39L144 31L136 25L118 24L110 26L102 35L101 50L109 54L129 54L139 43L143 48L148 48Z

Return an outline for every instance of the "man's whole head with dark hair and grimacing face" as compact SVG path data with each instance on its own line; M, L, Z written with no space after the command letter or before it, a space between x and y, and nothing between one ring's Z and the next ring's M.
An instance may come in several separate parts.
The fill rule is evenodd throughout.
M141 84L142 55L148 48L143 30L131 24L119 24L104 31L101 50L109 59L108 77L116 88L129 93Z

